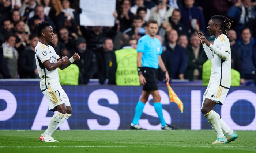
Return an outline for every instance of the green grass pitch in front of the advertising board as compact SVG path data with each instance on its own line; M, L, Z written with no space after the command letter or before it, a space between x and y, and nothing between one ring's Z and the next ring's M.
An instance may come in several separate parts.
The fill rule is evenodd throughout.
M236 131L229 144L212 144L213 130L56 130L59 142L40 142L44 131L0 130L0 153L251 153L256 131Z

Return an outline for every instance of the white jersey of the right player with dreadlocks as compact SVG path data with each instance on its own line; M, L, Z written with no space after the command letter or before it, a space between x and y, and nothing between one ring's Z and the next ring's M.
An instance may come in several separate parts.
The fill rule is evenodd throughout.
M212 50L212 67L209 83L218 84L225 88L230 88L231 51L229 39L226 35L221 34L214 40L214 44L211 44L209 48Z

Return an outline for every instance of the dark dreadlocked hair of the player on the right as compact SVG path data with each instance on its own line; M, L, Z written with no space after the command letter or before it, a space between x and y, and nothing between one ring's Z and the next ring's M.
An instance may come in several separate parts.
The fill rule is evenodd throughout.
M229 18L223 15L214 15L211 17L210 20L216 21L218 24L220 24L221 28L219 29L219 31L223 32L224 34L227 34L232 22L231 20L229 20Z

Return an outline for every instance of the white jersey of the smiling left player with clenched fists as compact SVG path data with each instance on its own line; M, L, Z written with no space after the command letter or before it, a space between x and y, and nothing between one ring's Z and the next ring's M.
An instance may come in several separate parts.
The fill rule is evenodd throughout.
M52 85L60 84L58 69L56 68L55 70L48 71L43 65L43 63L48 60L51 63L57 63L57 60L59 58L59 55L56 54L52 46L48 46L42 42L38 42L37 46L35 47L35 60L37 63L37 70L41 78L41 91L46 90Z

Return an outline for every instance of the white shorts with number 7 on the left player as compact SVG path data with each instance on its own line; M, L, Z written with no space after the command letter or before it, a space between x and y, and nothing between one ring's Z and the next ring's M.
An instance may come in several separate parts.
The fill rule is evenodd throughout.
M61 85L53 85L48 87L42 92L48 99L49 110L54 109L56 106L65 103L66 107L70 106L67 94L62 89Z

